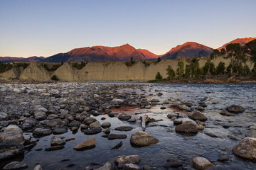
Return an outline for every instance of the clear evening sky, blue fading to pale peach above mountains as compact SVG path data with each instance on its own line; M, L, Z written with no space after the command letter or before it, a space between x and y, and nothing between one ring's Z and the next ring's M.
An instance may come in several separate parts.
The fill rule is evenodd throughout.
M256 37L255 0L0 0L1 57L126 43L163 55L247 37Z

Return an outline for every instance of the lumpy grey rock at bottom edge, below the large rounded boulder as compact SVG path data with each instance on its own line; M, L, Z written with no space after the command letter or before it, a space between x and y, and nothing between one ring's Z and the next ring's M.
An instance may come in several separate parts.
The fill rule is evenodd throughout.
M117 164L119 169L122 169L124 164L139 164L141 162L141 159L139 155L129 155L129 156L117 156L114 159L114 164Z

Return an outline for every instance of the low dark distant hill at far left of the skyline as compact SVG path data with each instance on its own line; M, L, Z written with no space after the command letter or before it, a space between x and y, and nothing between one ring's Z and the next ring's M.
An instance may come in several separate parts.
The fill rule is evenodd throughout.
M0 57L0 62L42 62L45 59L45 57Z

